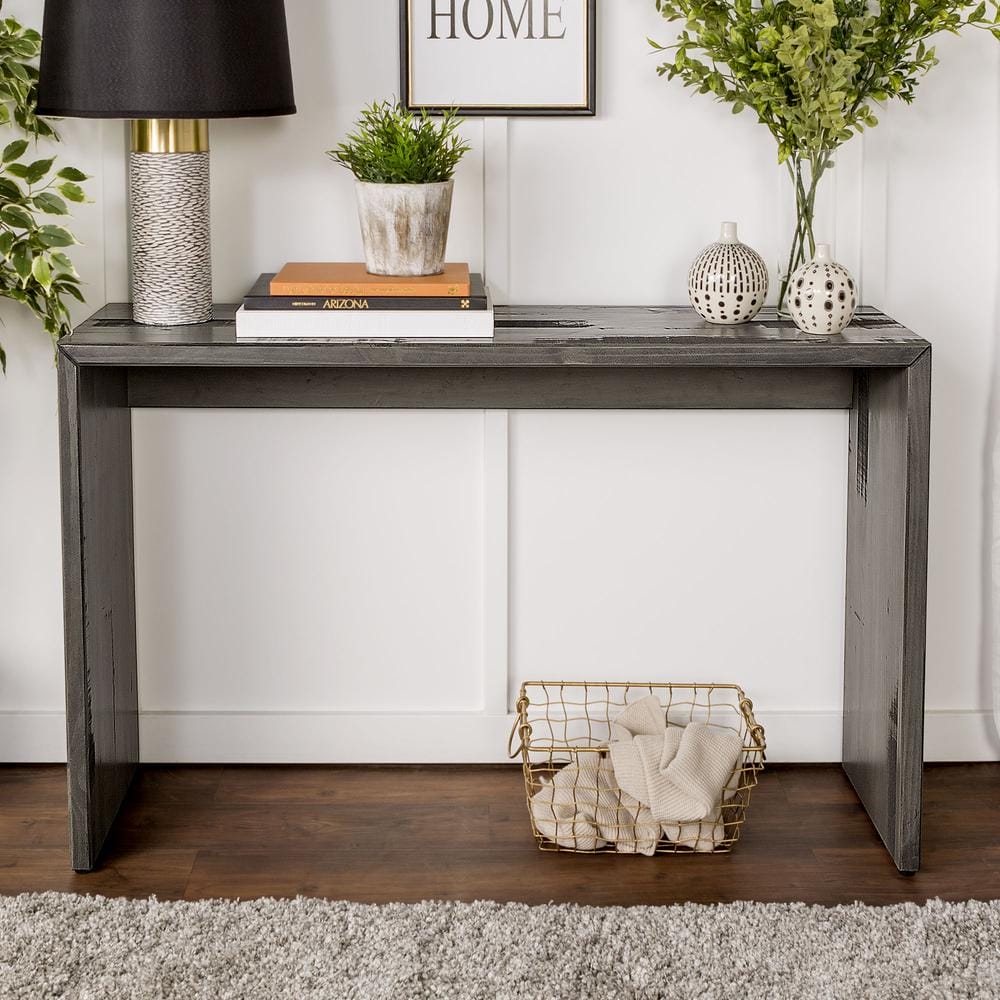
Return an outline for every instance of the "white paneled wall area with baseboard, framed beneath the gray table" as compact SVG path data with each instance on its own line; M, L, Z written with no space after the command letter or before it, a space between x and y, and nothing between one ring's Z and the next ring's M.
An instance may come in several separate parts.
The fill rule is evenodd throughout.
M842 412L133 421L145 760L498 760L549 678L741 682L839 755Z

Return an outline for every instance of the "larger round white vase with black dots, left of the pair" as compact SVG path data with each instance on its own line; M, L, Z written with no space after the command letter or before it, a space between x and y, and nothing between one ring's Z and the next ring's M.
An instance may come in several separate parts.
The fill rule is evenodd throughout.
M698 254L688 273L688 295L709 323L746 323L767 297L767 265L756 250L740 243L735 222L722 223L718 243Z

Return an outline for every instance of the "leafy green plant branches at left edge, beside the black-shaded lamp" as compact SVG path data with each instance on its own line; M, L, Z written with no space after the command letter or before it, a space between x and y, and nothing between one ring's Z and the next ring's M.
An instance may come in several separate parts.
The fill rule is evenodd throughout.
M83 294L63 253L77 240L44 217L68 215L67 202L86 201L80 184L87 175L74 167L55 169L54 156L29 155L38 139L59 138L35 115L41 41L12 17L0 22L0 124L21 133L0 153L0 296L26 305L55 341L70 330L65 297L82 302ZM0 346L0 370L6 369Z

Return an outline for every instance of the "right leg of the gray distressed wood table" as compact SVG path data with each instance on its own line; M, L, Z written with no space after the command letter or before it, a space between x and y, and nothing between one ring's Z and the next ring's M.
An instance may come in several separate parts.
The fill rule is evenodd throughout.
M844 770L902 872L920 867L931 352L855 377Z

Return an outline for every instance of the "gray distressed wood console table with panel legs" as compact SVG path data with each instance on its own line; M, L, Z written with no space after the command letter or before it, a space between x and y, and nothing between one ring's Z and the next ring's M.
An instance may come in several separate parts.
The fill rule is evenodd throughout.
M930 345L872 310L810 337L687 308L506 307L492 342L237 342L109 305L59 345L72 864L95 867L139 761L129 410L850 410L843 761L896 865L920 864Z

